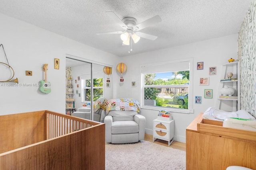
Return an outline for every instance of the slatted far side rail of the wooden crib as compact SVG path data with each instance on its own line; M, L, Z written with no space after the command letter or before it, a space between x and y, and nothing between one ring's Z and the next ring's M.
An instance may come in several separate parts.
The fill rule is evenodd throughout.
M98 125L96 121L81 119L78 117L64 115L54 111L45 111L46 113L46 139L52 139L61 135L66 135L80 129L85 129Z

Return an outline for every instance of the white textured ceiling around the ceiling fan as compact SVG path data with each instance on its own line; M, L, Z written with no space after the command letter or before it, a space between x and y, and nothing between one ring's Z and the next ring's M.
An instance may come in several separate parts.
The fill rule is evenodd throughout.
M252 0L0 0L0 13L26 21L96 49L128 56L238 33ZM122 45L123 31L106 15L113 11L122 19L138 23L153 16L160 23L140 32L158 36L155 41L141 38L133 51Z

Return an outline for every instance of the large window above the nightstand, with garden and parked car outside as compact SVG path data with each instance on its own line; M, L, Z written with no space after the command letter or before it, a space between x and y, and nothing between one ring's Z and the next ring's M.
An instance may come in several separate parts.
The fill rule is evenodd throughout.
M142 107L192 112L192 59L141 66Z

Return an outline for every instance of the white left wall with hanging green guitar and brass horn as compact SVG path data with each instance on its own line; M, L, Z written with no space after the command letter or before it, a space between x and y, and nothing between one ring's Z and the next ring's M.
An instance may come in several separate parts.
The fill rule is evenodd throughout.
M3 14L0 14L0 21L0 44L4 45L9 64L15 71L14 78L19 80L18 87L0 83L0 115L45 109L65 113L66 54L110 65L119 60L117 56ZM60 59L59 70L54 69L54 58ZM2 49L0 62L6 63ZM43 94L37 86L22 86L44 80L42 64L45 63L48 63L47 80L52 92ZM32 71L32 76L26 76L25 70ZM11 77L2 64L0 72L0 81Z

